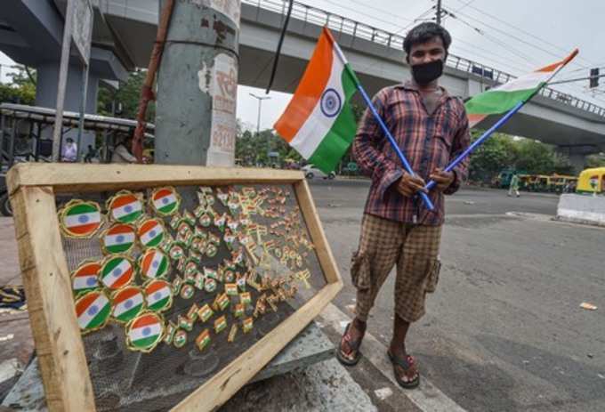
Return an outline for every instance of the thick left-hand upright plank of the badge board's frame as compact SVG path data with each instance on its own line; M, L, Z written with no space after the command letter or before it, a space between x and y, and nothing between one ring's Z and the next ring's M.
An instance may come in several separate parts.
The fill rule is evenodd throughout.
M52 187L13 193L28 313L51 411L94 411Z

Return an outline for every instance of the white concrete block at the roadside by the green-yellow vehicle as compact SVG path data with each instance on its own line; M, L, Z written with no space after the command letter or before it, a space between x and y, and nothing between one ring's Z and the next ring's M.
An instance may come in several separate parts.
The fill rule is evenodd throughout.
M559 198L557 219L605 226L605 197L565 194Z

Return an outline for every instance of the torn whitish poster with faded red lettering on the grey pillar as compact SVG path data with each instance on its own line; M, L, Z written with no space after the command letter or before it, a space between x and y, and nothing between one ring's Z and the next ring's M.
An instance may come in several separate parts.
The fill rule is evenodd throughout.
M206 165L234 166L238 63L230 54L219 53L214 59L208 89L207 92L212 96L212 128Z

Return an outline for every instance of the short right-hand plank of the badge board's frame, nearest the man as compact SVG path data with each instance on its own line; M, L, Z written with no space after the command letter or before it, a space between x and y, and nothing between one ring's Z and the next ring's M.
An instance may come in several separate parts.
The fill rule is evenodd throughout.
M319 214L313 203L309 183L306 180L294 183L294 192L298 198L298 204L301 206L304 221L307 223L307 228L311 232L311 240L315 245L315 250L318 254L321 270L324 271L328 283L343 284L338 267L336 266L332 249L327 243L326 233L321 227Z

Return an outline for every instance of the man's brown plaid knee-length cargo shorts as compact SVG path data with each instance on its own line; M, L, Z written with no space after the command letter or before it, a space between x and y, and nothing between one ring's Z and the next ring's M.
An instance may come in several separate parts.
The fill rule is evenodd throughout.
M408 322L424 315L427 293L437 287L441 226L413 225L364 214L359 249L353 254L351 278L357 287L360 320L374 305L384 280L397 264L395 313Z

